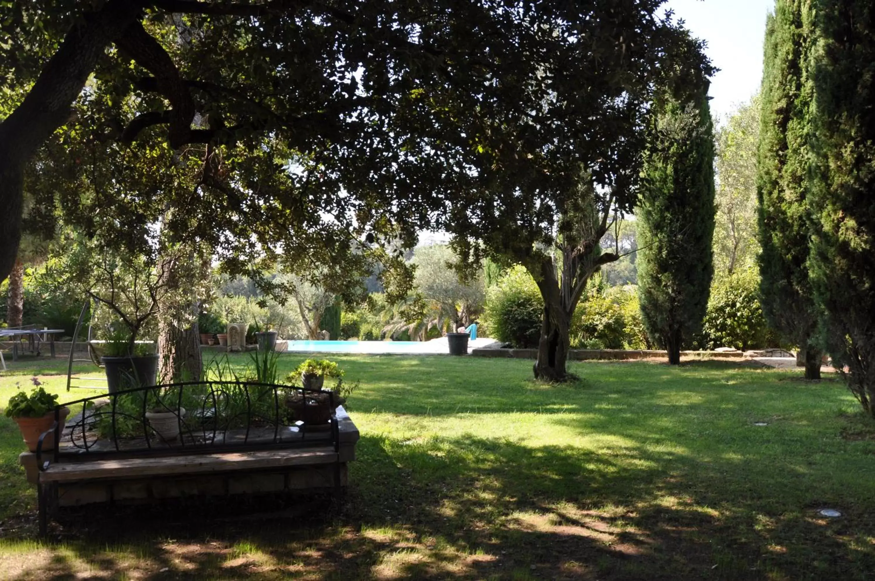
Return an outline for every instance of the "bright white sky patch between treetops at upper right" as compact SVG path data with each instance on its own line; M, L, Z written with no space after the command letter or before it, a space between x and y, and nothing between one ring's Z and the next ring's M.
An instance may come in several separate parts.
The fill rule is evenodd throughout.
M774 0L668 0L664 6L708 43L705 52L720 69L711 79L711 113L722 121L760 90L766 15Z

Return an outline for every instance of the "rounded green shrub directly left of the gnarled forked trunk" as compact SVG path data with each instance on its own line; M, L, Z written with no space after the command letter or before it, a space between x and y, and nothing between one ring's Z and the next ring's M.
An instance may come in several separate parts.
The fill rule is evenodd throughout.
M535 347L541 336L543 299L521 266L507 271L486 292L485 325L494 339L514 347Z

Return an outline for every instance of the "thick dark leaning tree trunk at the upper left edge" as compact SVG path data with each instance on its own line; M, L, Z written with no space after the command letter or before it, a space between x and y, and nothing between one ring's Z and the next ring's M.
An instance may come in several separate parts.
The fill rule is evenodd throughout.
M0 123L0 282L9 275L21 241L22 171L34 151L70 117L106 47L142 13L142 4L110 0L73 19L25 100Z

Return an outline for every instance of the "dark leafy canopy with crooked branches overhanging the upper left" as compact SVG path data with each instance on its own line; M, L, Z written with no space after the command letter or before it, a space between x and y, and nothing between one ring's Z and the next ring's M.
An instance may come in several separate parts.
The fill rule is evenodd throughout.
M452 158L481 147L480 120L527 115L514 91L591 14L559 2L4 3L0 234L12 243L0 276L25 165L59 128L60 206L87 235L110 223L144 246L163 221L232 270L257 252L336 262L353 240L412 246L445 209ZM622 34L606 31L611 50L633 53Z

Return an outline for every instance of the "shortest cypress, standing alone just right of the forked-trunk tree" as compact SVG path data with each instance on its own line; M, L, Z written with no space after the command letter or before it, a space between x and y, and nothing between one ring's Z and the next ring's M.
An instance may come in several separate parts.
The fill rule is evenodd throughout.
M638 283L648 335L681 360L702 326L714 272L714 140L707 82L654 103L637 215Z

